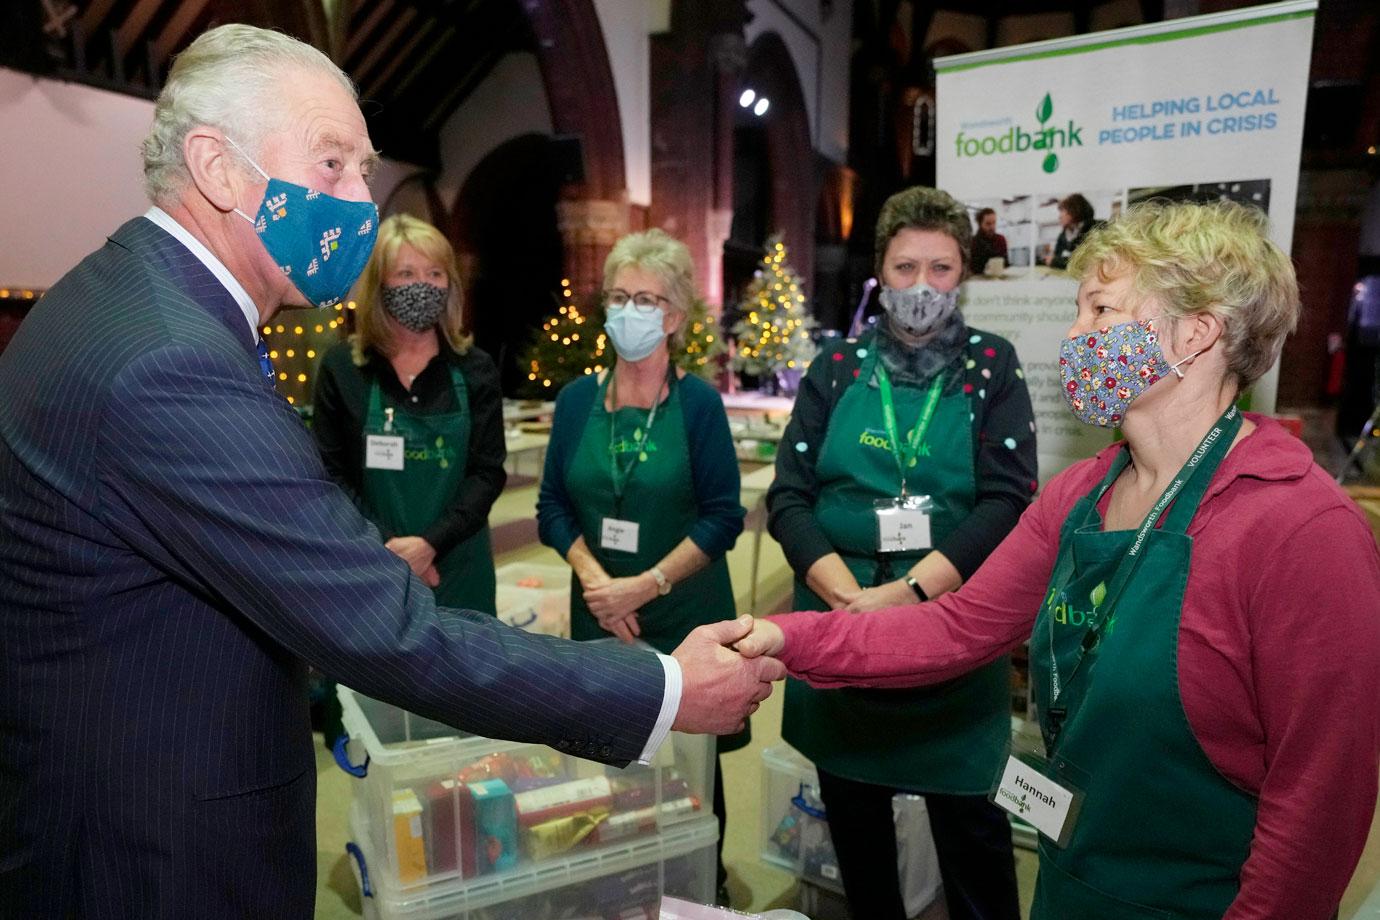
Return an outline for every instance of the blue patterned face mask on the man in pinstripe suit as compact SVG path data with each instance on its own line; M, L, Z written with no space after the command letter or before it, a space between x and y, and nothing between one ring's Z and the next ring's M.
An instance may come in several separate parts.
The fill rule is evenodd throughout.
M258 219L235 212L254 225L269 257L310 303L339 303L374 251L378 207L270 178L239 143L225 139L268 179Z

